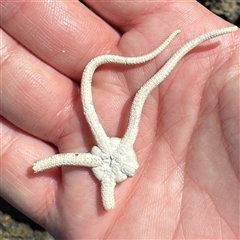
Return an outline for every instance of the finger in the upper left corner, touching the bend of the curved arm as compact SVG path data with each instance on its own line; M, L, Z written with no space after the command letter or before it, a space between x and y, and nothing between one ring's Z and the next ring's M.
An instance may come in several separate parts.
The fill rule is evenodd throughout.
M116 46L119 34L78 1L1 2L1 26L60 72L80 78L96 55Z

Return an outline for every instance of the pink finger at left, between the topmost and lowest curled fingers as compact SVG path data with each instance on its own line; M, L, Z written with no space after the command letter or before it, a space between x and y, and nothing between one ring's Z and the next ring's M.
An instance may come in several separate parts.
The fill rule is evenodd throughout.
M82 142L79 132L84 123L79 125L83 114L78 84L34 57L3 31L1 35L1 115L60 148L59 139L69 135ZM67 142L74 149L75 141Z

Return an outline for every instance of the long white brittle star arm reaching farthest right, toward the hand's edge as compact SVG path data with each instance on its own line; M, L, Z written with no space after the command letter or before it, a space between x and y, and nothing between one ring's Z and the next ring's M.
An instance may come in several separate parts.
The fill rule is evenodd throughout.
M138 133L139 122L140 122L143 105L147 97L149 96L151 91L154 88L156 88L169 75L169 73L178 64L178 62L189 51L191 51L193 48L195 48L199 44L211 38L215 38L223 34L234 32L237 29L238 27L233 26L228 28L222 28L219 30L214 30L214 31L205 33L201 36L198 36L195 39L187 42L175 54L172 55L172 57L164 64L164 66L155 75L153 75L153 77L151 77L140 88L140 90L135 95L132 106L131 106L127 129L118 147L119 152L127 151L128 149L131 149L133 147L133 144L136 140L137 133Z

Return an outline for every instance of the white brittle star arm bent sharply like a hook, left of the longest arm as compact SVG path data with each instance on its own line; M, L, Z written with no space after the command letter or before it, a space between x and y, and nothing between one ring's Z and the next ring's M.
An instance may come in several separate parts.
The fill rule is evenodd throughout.
M174 37L180 32L180 30L174 31L159 47L152 52L139 56L139 57L122 57L116 55L102 55L92 59L83 71L81 80L81 96L83 104L83 112L86 120L90 126L92 134L96 140L97 146L102 152L107 153L110 150L109 137L105 133L93 106L91 84L94 71L100 65L106 63L122 64L122 65L135 65L150 61L161 53Z

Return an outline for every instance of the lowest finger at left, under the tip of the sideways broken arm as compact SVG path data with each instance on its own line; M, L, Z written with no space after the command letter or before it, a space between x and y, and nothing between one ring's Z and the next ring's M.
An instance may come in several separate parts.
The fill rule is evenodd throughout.
M52 199L61 178L59 169L49 170L44 178L34 177L31 165L44 153L51 155L55 150L22 132L3 117L0 117L0 126L4 136L0 152L0 194L20 211L37 220L43 217L36 214L39 209L51 208L51 201L47 205L46 202ZM54 181L49 181L50 176Z

